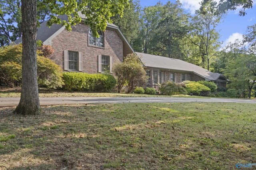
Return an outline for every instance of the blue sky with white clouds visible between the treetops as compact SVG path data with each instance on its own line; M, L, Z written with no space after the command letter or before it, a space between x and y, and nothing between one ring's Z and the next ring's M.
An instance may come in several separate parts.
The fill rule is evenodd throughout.
M142 7L144 6L154 6L157 0L140 0ZM166 4L168 0L160 0L163 4ZM171 0L175 2L175 0ZM201 0L180 0L184 10L190 14L194 14L194 11L199 9L199 2ZM254 2L254 4L256 4ZM223 41L225 46L228 42L234 42L235 39L242 40L242 34L246 33L246 28L249 25L256 23L256 11L255 8L246 10L247 15L242 17L238 15L239 9L236 11L230 11L222 19L222 22L218 24L217 30L220 33L220 41Z

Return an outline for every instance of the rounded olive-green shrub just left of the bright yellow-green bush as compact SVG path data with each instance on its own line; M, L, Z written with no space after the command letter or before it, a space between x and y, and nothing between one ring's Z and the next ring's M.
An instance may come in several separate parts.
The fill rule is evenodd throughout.
M175 94L187 94L186 89L182 87L180 84L176 84L175 82L165 82L161 84L160 93L163 95L175 95Z

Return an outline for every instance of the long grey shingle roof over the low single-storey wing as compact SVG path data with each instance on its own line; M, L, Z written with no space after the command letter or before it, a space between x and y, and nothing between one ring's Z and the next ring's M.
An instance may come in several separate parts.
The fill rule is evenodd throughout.
M221 75L179 59L172 59L168 57L161 57L138 52L136 52L136 54L139 56L144 66L147 67L194 72L195 74L198 74L199 76L202 76L208 80L217 80Z

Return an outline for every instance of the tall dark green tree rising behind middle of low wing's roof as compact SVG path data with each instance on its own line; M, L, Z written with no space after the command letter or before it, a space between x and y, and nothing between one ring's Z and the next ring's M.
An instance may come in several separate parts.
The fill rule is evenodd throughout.
M160 21L157 25L153 41L157 42L152 48L152 53L184 59L181 51L182 39L188 33L188 15L182 9L181 3L168 1L160 10Z

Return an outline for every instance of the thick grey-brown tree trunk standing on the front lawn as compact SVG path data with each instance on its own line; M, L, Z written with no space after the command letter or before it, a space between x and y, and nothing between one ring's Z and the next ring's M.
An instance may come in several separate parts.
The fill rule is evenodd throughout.
M14 113L36 115L41 112L36 66L36 0L22 0L22 90Z

